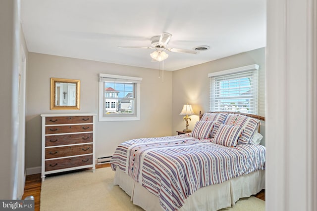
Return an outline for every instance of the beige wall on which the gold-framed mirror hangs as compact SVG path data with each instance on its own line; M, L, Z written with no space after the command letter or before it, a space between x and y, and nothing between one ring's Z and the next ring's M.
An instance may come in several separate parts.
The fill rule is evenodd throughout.
M98 117L98 73L143 78L141 84L141 121L96 122L96 158L111 156L126 140L170 135L172 128L172 72L29 53L27 70L26 167L41 166L42 113L96 113ZM50 110L50 78L79 79L79 111Z

